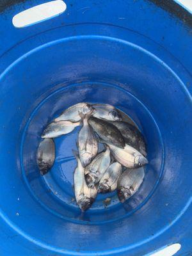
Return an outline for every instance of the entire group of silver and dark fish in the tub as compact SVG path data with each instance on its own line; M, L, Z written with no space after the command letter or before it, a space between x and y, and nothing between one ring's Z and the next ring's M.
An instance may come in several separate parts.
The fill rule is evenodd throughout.
M42 132L37 164L44 175L55 159L52 138L68 134L82 125L77 139L74 192L82 211L90 208L97 193L117 189L120 202L130 198L143 182L148 163L145 141L138 128L125 122L118 109L109 104L78 103L67 108ZM99 151L99 143L104 150Z

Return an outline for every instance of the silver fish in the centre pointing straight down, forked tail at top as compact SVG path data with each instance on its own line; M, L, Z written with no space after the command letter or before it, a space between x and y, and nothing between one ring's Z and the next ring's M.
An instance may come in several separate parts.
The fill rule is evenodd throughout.
M81 114L83 119L83 127L79 131L77 147L79 150L79 157L83 167L90 164L98 152L98 141L88 124L88 118L92 115L92 111L86 115Z

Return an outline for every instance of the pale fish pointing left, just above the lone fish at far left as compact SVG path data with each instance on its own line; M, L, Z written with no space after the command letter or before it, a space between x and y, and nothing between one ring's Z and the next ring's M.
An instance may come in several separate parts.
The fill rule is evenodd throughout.
M73 123L71 121L59 121L52 122L47 125L44 132L42 133L42 138L56 138L63 134L68 134L72 132L77 126L81 125L81 122Z

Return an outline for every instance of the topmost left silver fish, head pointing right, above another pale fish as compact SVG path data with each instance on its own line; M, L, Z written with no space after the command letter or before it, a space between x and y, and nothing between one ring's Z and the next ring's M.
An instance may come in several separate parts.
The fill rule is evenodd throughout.
M79 122L81 120L81 116L79 115L79 113L86 115L92 110L93 107L86 102L77 103L76 105L70 106L70 108L65 109L65 111L63 111L60 116L54 119L54 122L65 120L71 122Z

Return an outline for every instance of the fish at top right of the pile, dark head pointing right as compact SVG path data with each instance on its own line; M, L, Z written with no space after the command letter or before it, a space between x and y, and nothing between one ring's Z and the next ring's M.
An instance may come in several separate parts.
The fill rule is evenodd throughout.
M95 109L93 116L110 121L121 121L122 116L120 112L109 104L93 104Z

